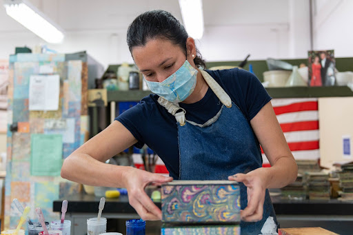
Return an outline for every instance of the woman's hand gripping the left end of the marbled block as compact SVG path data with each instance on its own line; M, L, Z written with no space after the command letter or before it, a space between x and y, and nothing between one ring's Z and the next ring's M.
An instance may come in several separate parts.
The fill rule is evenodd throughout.
M125 172L125 187L128 190L129 203L144 221L158 221L162 219L162 212L151 198L145 193L145 187L150 184L170 182L172 177L162 176L129 167Z

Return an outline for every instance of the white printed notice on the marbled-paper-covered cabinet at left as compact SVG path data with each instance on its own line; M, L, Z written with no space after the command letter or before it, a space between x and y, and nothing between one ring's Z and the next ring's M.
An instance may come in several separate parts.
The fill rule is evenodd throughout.
M59 109L60 77L55 75L30 76L29 110Z

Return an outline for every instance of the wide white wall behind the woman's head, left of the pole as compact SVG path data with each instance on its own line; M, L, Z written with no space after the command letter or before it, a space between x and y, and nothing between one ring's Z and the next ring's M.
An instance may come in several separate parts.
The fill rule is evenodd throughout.
M125 34L128 24L145 10L168 10L181 20L177 0L31 0L65 30L58 52L87 50L107 66L132 63ZM208 61L307 57L310 34L308 0L203 0L205 34L198 42ZM301 32L301 34L299 34ZM44 43L6 15L0 7L0 59L15 46Z

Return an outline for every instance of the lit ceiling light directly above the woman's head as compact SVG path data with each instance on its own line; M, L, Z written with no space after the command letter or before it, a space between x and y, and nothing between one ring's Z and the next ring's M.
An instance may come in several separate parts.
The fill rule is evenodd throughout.
M179 0L179 6L190 37L201 39L203 35L202 0Z

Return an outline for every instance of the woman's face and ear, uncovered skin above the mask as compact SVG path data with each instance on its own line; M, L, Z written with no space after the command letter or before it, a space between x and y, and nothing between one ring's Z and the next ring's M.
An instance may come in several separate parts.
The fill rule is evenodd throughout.
M190 48L190 43L194 47L192 38L188 38L186 46L192 54L196 54L196 51L192 51L192 45ZM191 53L188 53L188 61L195 68ZM181 68L187 59L180 46L168 39L150 39L144 46L132 48L131 54L145 79L155 82L167 79Z

